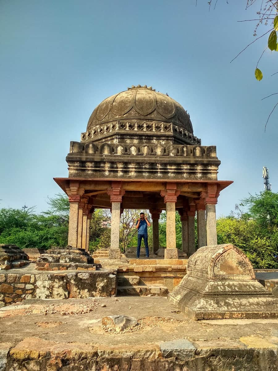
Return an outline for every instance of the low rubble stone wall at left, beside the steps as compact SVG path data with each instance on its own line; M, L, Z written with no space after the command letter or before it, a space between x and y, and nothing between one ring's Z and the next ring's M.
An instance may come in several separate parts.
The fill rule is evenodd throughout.
M24 299L116 296L115 270L52 274L0 274L0 308Z

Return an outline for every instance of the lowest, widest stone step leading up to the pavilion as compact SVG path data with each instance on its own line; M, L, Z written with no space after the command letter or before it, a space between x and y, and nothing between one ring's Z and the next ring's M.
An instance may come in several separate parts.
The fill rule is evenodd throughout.
M118 296L167 296L168 288L161 285L118 286Z

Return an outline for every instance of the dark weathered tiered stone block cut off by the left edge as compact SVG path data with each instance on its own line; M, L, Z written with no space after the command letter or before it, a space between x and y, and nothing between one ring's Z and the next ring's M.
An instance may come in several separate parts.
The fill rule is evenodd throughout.
M16 245L0 244L0 270L21 268L29 264L28 255Z

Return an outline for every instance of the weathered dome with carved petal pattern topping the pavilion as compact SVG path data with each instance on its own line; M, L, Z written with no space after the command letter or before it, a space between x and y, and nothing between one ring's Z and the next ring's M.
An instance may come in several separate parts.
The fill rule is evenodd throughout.
M190 117L185 109L167 94L152 87L133 86L102 101L89 118L87 131L115 121L171 122L193 134Z

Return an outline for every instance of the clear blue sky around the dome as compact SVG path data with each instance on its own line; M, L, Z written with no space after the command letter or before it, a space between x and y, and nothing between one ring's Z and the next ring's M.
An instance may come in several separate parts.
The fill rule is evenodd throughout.
M47 209L67 177L65 157L99 102L130 85L152 85L180 102L203 145L216 145L220 180L234 180L218 200L227 215L263 190L269 167L278 191L277 116L264 133L277 91L277 55L254 40L256 8L245 1L0 2L0 207ZM261 31L265 29L261 26ZM266 31L266 30L265 30ZM276 78L275 78L276 77Z

